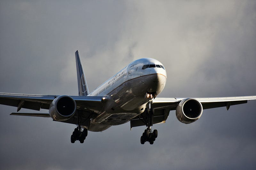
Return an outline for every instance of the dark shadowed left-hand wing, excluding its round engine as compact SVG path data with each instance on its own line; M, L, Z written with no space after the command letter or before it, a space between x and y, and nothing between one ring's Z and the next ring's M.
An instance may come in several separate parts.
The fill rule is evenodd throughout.
M17 111L21 108L40 110L49 109L52 101L58 95L37 95L37 94L15 94L0 93L0 104L17 107ZM103 107L102 98L100 96L70 96L76 101L76 107L79 110L87 112L97 112Z

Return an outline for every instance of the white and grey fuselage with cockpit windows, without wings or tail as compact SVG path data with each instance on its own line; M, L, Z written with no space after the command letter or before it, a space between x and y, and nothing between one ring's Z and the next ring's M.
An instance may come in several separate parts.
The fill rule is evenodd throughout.
M166 78L163 64L152 58L138 59L124 67L88 94L110 99L104 110L92 118L89 130L102 131L143 113L148 103L146 93L160 94Z

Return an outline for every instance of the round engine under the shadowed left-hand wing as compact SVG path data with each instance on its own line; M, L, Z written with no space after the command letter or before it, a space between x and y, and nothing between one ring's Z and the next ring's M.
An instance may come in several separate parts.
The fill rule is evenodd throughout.
M65 121L76 113L76 101L70 96L59 96L49 107L49 114L55 121Z

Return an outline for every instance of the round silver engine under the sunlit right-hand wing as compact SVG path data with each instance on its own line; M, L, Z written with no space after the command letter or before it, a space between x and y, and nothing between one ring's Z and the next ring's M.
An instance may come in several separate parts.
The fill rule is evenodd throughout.
M183 99L176 108L176 117L182 123L192 123L201 117L202 104L193 98Z

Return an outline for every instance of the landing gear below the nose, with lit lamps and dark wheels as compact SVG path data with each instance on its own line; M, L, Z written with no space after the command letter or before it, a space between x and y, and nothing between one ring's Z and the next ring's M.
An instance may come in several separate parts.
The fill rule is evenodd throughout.
M145 129L142 136L140 137L140 143L141 144L145 144L145 142L149 142L149 144L154 144L154 141L156 140L156 138L158 136L157 130L155 129L152 132L151 127L150 127L150 126L153 125L153 118L154 118L154 109L151 108L151 104L152 104L152 100L148 100L148 107L146 107L146 115L147 116L146 116L146 119L145 119L145 122L147 122L148 128Z

